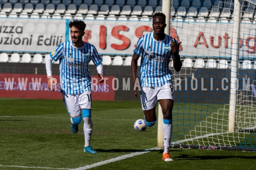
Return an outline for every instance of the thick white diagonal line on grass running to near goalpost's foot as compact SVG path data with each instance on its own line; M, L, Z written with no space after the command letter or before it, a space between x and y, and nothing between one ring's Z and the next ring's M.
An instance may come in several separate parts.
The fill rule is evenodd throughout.
M109 159L109 160L104 160L102 162L97 162L95 164L91 164L91 165L75 168L75 169L72 169L72 170L86 170L86 169L89 169L89 168L94 168L96 166L101 166L101 165L108 164L108 163L111 163L111 162L116 162L116 161L119 161L119 160L123 160L123 159L126 159L126 158L130 158L130 157L133 157L133 156L144 154L144 153L150 152L152 150L160 150L160 149L161 148L158 148L158 147L152 148L152 149L145 149L145 150L143 150L141 152L134 152L134 153L126 154L126 155L123 155L123 156L118 156L116 158L112 158L112 159Z

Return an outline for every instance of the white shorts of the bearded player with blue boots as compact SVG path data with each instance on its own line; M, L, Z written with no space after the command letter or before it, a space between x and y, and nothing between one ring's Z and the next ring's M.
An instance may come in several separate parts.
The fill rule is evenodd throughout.
M80 94L62 94L63 102L71 117L81 114L81 109L92 109L92 91Z

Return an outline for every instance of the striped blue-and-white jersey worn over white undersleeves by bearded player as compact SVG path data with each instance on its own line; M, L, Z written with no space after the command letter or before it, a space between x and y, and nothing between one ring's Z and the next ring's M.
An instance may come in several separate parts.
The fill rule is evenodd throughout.
M102 62L94 45L84 42L74 47L72 41L60 43L50 54L54 61L60 60L60 84L64 94L80 94L91 90L91 76L88 71L92 60L97 66Z

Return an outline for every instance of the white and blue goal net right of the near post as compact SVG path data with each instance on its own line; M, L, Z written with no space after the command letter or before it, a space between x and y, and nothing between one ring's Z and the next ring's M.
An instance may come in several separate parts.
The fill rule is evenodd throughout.
M255 150L255 1L171 3L183 63L173 71L172 145Z

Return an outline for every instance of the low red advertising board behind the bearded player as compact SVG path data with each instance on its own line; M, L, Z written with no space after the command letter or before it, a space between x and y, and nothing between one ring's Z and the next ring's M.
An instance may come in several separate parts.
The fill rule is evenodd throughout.
M0 74L0 97L6 98L35 98L35 99L61 99L60 77L54 76L57 84L56 90L48 90L47 78L44 74ZM115 92L112 87L114 76L104 77L104 83L99 83L98 76L92 76L92 99L114 100Z

